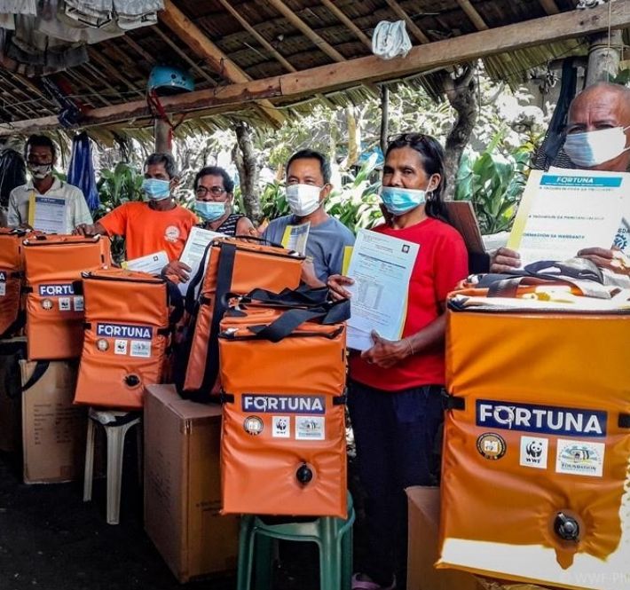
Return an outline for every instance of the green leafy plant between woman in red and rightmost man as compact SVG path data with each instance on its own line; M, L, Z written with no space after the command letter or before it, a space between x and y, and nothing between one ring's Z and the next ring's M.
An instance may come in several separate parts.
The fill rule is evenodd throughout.
M498 133L484 152L464 153L457 174L455 200L472 201L484 234L510 229L529 172L530 147L502 155L500 141Z

